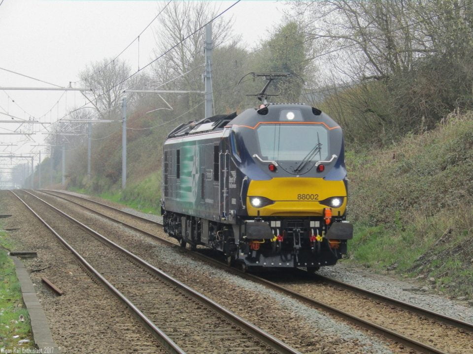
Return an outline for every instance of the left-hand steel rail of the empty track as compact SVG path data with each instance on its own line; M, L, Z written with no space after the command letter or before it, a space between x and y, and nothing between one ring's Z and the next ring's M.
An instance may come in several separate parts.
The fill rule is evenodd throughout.
M59 241L85 266L113 295L132 312L132 314L145 325L145 327L151 332L151 334L158 339L171 353L175 354L186 354L172 339L170 339L166 333L164 333L156 324L154 324L146 315L144 315L125 295L123 295L117 288L115 288L107 279L105 279L101 273L99 273L89 262L87 262L68 242L60 236L44 219L42 219L32 207L30 207L23 199L20 198L15 192L10 192L27 207L36 218L56 236ZM27 192L29 193L29 192ZM31 193L29 193L31 194ZM33 195L33 194L32 194ZM36 197L37 198L37 197ZM39 199L39 198L38 198Z

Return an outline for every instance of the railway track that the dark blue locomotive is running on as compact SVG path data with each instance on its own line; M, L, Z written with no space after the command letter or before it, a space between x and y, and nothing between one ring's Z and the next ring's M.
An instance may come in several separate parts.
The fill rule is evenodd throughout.
M123 225L127 225L128 227L131 227L131 228L135 229L136 231L145 233L146 235L152 236L153 238L156 238L156 239L159 239L162 242L166 242L169 245L176 246L175 242L171 242L166 238L157 236L157 235L155 235L155 233L150 231L150 229L153 229L153 228L155 230L158 230L157 228L159 228L160 224L157 223L157 222L154 222L154 221L136 216L136 215L131 214L131 213L127 213L123 210L120 210L120 209L117 209L117 208L114 208L114 207L110 207L110 206L107 206L105 204L102 204L102 203L99 203L99 202L96 202L96 201L93 201L93 200L90 200L90 199L87 199L87 198L84 198L84 197L73 196L73 195L70 195L68 193L58 192L58 191L54 191L54 192L43 191L43 192L48 193L50 195L54 195L54 196L59 197L59 198L62 198L64 200L72 202L76 205L85 207L85 208L89 209L92 212L101 214L102 216L105 216L105 217L107 217L111 220L114 220L116 222L119 222ZM71 199L75 199L76 201L73 201ZM77 202L77 201L80 201L80 203ZM88 206L86 206L85 204L87 204ZM108 212L106 214L104 214L104 213L98 211L97 207L106 209L106 210L108 210ZM123 220L120 220L119 215L122 215L122 216L126 215L128 222L124 222ZM135 225L131 225L130 220L135 220L136 221L136 222L134 222ZM139 224L139 226L138 226L138 224ZM352 311L348 312L348 311L345 311L343 309L340 309L339 306L336 307L335 305L330 304L329 301L320 301L318 299L313 298L312 294L314 294L314 293L319 293L318 295L320 295L319 290L320 290L320 287L323 285L323 283L320 284L320 281L323 281L325 283L329 283L332 288L337 288L338 290L343 290L343 291L347 292L346 294L343 295L343 296L345 296L345 299L346 298L351 298L352 295L362 296L364 300L375 301L375 302L378 303L378 305L379 304L381 304L382 306L387 305L387 306L390 306L391 309L393 307L395 307L396 309L400 309L400 311L415 314L417 317L421 317L423 320L430 319L432 321L434 327L435 327L435 325L440 326L440 330L443 331L443 332L445 330L452 330L452 328L453 328L453 331L455 331L457 329L460 333L459 335L462 336L462 338L460 338L460 341L461 340L465 341L465 338L463 338L463 337L466 337L466 336L469 336L469 335L471 337L472 332L473 332L473 324L470 324L470 323L467 323L467 322L464 322L464 321L461 321L461 320L457 320L457 319L454 319L454 318L451 318L451 317L448 317L448 316L445 316L445 315L442 315L442 314L439 314L439 313L436 313L436 312L433 312L433 311L430 311L430 310L427 310L427 309L424 309L424 308L421 308L421 307L418 307L418 306L414 306L414 305L411 305L407 302L400 301L400 300L397 300L397 299L394 299L394 298L390 298L390 297L385 296L385 295L376 294L376 293L373 293L371 291L368 291L368 290L365 290L365 289L362 289L362 288L359 288L359 287L356 287L356 286L338 281L336 279L331 279L331 278L323 277L323 276L320 276L320 275L308 275L303 270L299 270L300 275L304 274L303 276L305 276L305 281L307 281L307 280L310 281L310 280L314 280L314 279L318 279L318 281L319 281L319 283L315 284L314 287L312 287L312 289L309 289L309 291L306 292L306 293L310 293L311 295L304 295L304 294L301 294L304 291L301 291L300 287L298 287L297 284L295 285L294 282L291 282L289 284L287 282L284 284L284 282L283 282L282 284L279 284L279 282L276 283L276 282L270 281L270 280L262 278L262 277L258 277L258 276L251 275L251 274L244 274L244 273L242 273L242 272L240 272L240 271L238 271L234 268L230 269L224 263L218 262L214 258L205 256L203 254L195 253L195 252L193 252L192 254L199 257L199 258L204 259L207 262L211 262L214 265L225 268L228 271L231 271L233 273L237 273L237 274L239 274L240 276L242 276L246 279L256 281L256 282L258 282L260 284L263 284L265 286L269 286L270 288L272 288L276 291L282 292L286 295L290 295L293 298L301 300L301 301L303 301L303 302L305 302L305 303L307 303L311 306L315 306L317 308L323 309L324 311L327 311L327 312L329 312L329 313L331 313L335 316L341 317L341 318L343 318L343 319L345 319L345 320L347 320L351 323L360 325L363 328L367 328L371 331L374 331L375 333L381 334L382 336L390 338L395 342L401 343L405 347L411 348L411 349L413 349L417 352L440 354L440 353L448 353L449 349L448 348L439 349L438 347L441 347L441 343L438 345L438 347L434 346L434 345L426 344L426 343L424 343L423 340L413 339L410 336L404 335L402 333L398 333L398 332L396 332L392 329L389 329L389 328L387 328L383 325L376 324L372 321L368 321L366 318L356 316L352 313ZM318 296L318 298L320 298L320 297L321 296ZM447 326L449 326L449 328ZM466 331L466 333L465 333L465 331ZM425 341L427 341L427 338L426 338ZM439 336L439 341L442 341L440 336ZM430 342L432 342L432 339L430 339ZM468 343L468 338L466 338L466 342ZM437 343L435 343L435 344L437 344ZM464 351L464 352L458 351L458 353L470 353L470 352L469 352L469 349L466 349L466 351Z

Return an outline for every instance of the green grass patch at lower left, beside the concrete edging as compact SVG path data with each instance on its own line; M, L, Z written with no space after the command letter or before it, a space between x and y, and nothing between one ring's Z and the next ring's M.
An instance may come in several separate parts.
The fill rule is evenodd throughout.
M0 223L0 229L3 225ZM30 317L23 307L20 283L16 277L15 266L8 258L7 249L14 248L14 242L0 231L0 348L34 348L31 335ZM23 315L24 322L20 321ZM17 338L14 338L18 336ZM18 341L29 339L26 344ZM21 349L19 349L21 350Z

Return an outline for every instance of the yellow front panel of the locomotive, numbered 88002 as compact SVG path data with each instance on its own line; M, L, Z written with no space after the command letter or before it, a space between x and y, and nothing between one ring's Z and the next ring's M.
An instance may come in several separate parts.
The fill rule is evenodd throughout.
M316 197L315 197L316 195ZM267 207L255 208L249 197L265 197L272 201ZM304 200L305 197L316 200ZM327 206L318 201L330 197L345 197L343 204L332 208L333 215L342 215L346 208L346 189L343 181L323 178L275 177L270 180L252 180L248 186L246 208L248 215L256 216L321 216Z

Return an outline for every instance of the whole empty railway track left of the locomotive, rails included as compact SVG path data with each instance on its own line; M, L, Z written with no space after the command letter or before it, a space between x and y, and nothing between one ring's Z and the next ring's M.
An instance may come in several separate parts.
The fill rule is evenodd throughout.
M170 353L299 353L34 194L12 193Z

